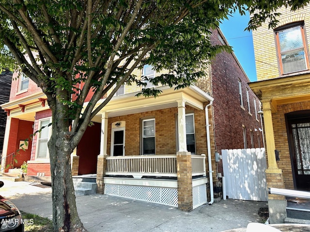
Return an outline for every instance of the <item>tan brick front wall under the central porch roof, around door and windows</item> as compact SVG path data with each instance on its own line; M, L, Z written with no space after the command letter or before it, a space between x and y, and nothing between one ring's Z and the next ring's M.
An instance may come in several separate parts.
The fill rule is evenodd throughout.
M110 117L108 121L108 146L107 153L110 155L111 125L117 121L125 121L125 155L140 155L140 128L141 120L144 118L155 118L155 153L176 154L176 114L178 109L169 108L156 111L143 112L139 114ZM186 106L186 113L194 113L196 153L207 154L206 128L204 110L196 110Z

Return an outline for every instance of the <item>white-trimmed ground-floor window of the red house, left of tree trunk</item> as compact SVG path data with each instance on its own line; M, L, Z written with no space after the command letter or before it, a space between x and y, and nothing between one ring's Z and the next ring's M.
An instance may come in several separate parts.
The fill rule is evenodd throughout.
M36 159L48 159L49 152L47 147L47 142L51 135L51 126L48 126L51 123L51 118L44 118L39 120L39 128L40 130L44 127L39 133L37 137L36 144Z

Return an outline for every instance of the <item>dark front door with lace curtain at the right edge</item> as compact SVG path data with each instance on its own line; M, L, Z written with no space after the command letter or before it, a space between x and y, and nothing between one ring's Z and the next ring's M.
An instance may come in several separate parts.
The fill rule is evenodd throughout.
M288 131L295 187L310 190L310 115L288 118Z

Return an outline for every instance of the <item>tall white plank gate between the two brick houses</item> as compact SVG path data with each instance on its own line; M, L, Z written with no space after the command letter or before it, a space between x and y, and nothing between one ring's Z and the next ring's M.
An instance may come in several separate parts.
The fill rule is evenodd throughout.
M228 198L268 201L264 148L222 150L222 160Z

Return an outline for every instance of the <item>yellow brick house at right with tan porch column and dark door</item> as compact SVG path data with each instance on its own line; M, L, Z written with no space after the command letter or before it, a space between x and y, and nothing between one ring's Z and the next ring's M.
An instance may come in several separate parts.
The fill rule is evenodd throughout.
M277 28L253 31L258 81L249 86L263 105L268 187L310 190L309 11L280 8ZM271 223L283 222L285 206L269 194Z

